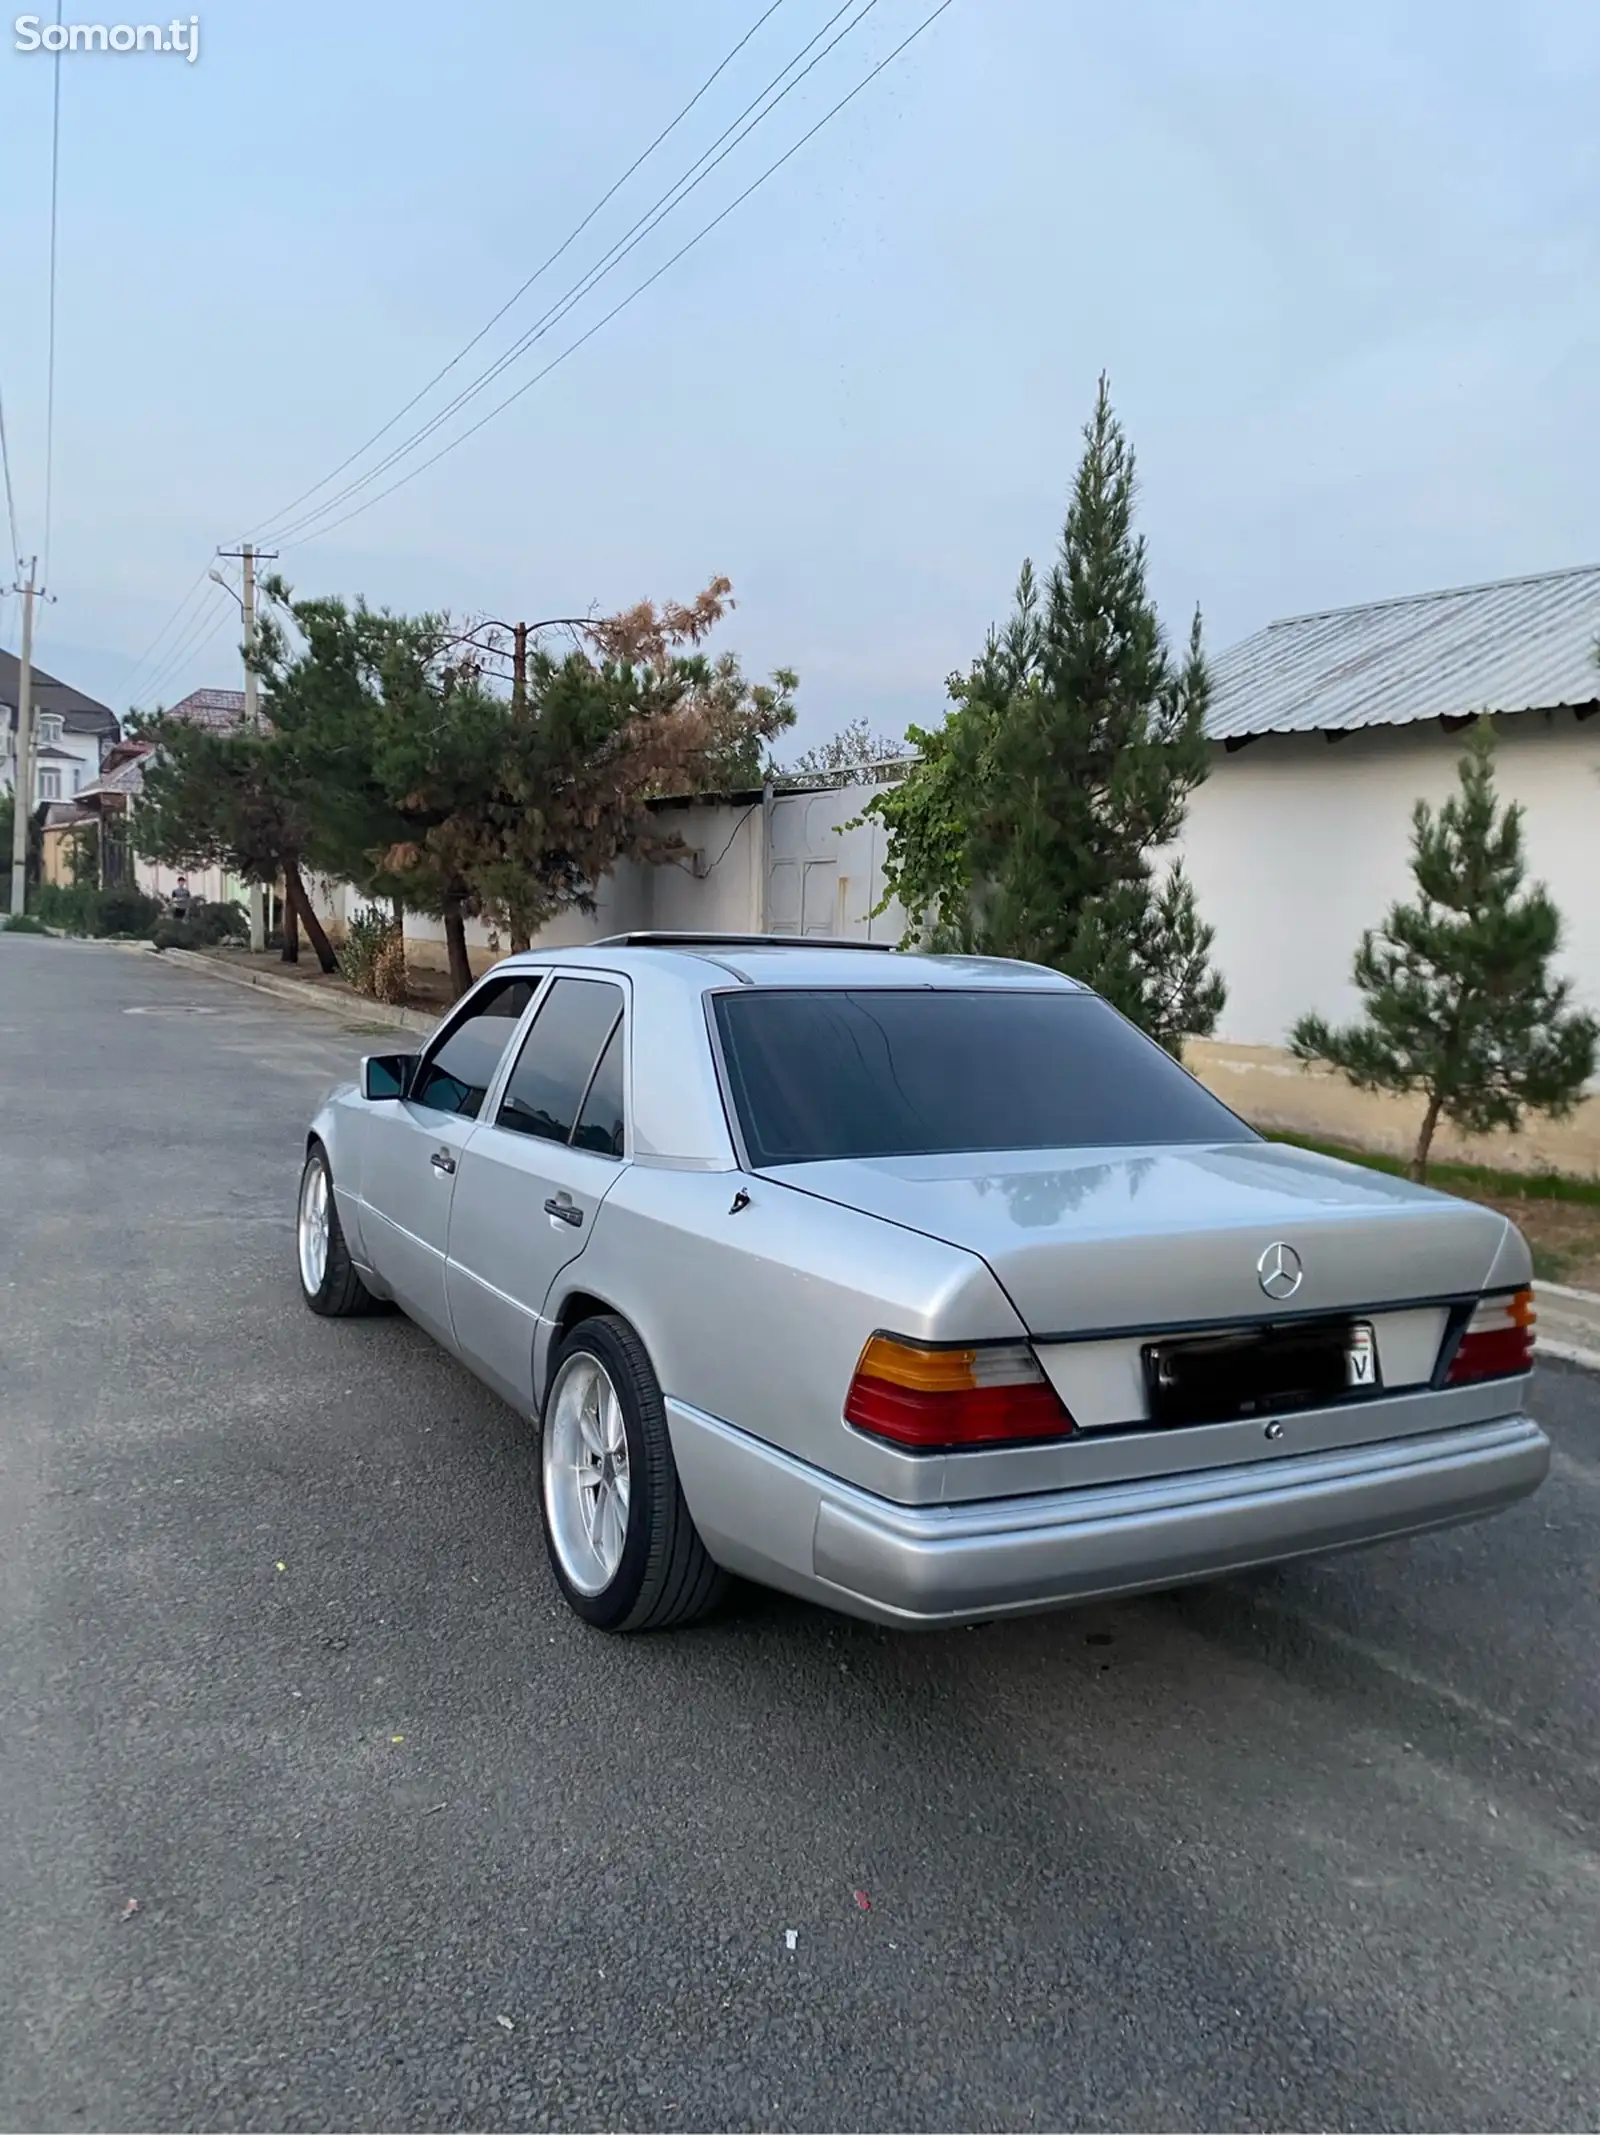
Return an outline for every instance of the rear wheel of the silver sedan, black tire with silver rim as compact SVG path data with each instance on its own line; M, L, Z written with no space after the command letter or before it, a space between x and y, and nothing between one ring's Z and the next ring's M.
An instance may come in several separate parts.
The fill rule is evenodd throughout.
M666 1631L722 1599L728 1576L684 1503L649 1354L613 1313L581 1322L555 1351L538 1494L555 1584L596 1631Z

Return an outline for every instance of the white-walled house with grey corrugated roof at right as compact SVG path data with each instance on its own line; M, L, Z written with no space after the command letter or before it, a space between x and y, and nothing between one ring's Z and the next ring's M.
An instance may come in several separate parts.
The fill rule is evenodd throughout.
M1211 775L1190 801L1183 863L1228 984L1196 1061L1228 1102L1277 1125L1339 1125L1288 1031L1307 1010L1356 1014L1361 933L1414 895L1412 809L1455 790L1478 717L1495 728L1500 794L1523 807L1530 877L1562 912L1562 969L1600 1012L1598 640L1600 566L1585 566L1288 617L1213 660ZM1344 1085L1339 1104L1356 1104ZM1359 1104L1356 1138L1393 1127L1399 1142L1410 1108L1391 1121L1384 1100ZM1600 1170L1600 1100L1521 1146Z

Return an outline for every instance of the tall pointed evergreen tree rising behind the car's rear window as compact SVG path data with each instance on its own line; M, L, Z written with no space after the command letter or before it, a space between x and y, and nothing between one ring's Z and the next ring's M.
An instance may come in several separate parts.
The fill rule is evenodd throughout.
M1023 564L1004 630L923 762L867 813L891 833L889 888L936 946L1081 978L1177 1053L1215 1027L1224 986L1181 867L1160 869L1205 779L1201 619L1175 660L1134 534L1134 457L1107 380L1060 557Z

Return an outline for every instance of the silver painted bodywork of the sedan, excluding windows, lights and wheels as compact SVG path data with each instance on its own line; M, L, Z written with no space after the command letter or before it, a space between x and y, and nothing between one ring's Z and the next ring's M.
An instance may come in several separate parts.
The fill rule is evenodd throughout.
M1474 1518L1538 1484L1549 1450L1521 1413L1525 1377L1438 1383L1472 1300L1530 1281L1493 1211L1262 1140L743 1164L716 993L1081 991L1070 980L765 942L598 944L491 978L536 971L624 980L622 1159L493 1125L538 999L479 1121L342 1089L312 1134L370 1287L523 1411L577 1317L637 1328L688 1507L728 1569L880 1623L944 1623ZM434 1172L440 1149L455 1174ZM547 1215L560 1196L581 1221ZM1292 1298L1262 1292L1277 1245L1303 1264ZM1151 1422L1149 1343L1318 1313L1371 1322L1371 1390ZM1032 1341L1079 1428L953 1454L869 1437L844 1398L878 1332Z

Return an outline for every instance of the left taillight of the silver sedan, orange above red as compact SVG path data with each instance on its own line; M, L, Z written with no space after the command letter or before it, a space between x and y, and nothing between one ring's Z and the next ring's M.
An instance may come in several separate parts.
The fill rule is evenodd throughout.
M857 1430L916 1452L1072 1435L1072 1418L1023 1341L927 1349L874 1334L861 1351L844 1416Z

